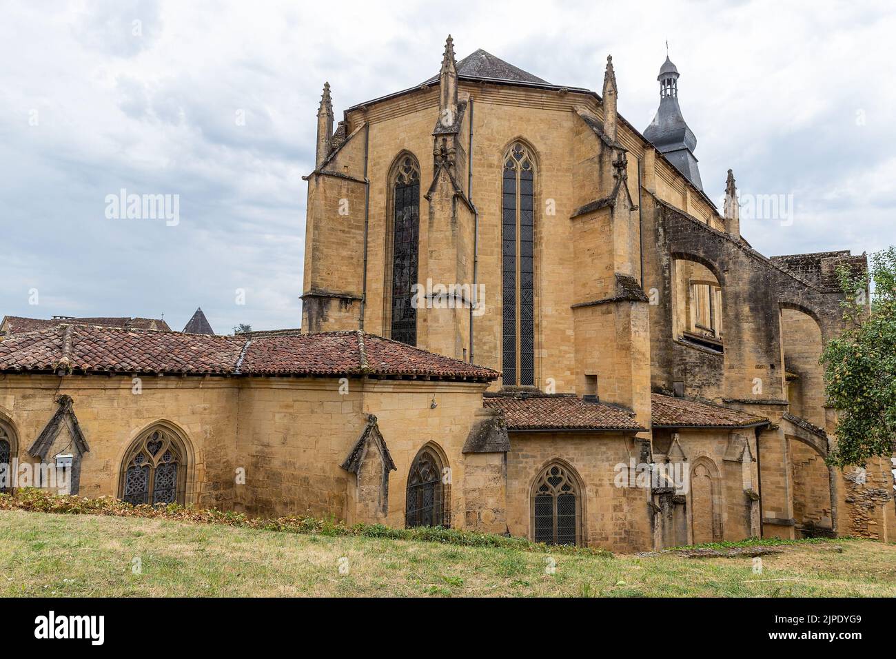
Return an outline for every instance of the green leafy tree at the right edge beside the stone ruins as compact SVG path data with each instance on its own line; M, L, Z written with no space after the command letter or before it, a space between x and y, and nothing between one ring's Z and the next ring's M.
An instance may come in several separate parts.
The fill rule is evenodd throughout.
M838 411L828 464L864 466L891 456L896 441L896 247L874 254L870 273L842 268L838 276L847 328L822 354L824 393Z

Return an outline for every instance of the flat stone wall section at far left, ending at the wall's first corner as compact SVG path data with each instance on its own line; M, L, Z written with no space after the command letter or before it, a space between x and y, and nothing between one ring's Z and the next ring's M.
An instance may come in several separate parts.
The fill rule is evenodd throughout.
M121 461L132 442L152 425L167 423L192 447L186 501L202 507L232 507L235 495L238 388L220 377L142 377L134 394L131 377L0 377L0 416L13 428L21 463L69 395L87 439L81 488L85 497L118 496ZM50 457L55 452L50 454Z

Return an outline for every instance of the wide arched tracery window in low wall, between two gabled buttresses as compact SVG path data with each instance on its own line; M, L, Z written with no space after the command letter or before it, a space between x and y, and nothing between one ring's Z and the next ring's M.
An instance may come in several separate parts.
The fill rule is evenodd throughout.
M144 432L125 455L121 499L128 503L183 504L186 490L186 451L171 430Z

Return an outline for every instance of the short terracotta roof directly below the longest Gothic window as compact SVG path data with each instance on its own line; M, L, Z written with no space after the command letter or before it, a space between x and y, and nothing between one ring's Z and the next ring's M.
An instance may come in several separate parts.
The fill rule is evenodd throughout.
M486 407L504 412L509 430L642 430L633 412L575 395L487 395Z

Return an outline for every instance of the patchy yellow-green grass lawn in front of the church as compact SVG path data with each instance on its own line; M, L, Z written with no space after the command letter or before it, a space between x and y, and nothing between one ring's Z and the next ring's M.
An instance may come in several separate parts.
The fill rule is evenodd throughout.
M551 554L0 510L0 596L896 596L896 545L774 549L754 574L749 555Z

